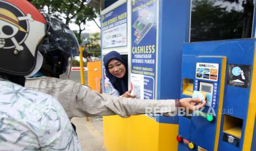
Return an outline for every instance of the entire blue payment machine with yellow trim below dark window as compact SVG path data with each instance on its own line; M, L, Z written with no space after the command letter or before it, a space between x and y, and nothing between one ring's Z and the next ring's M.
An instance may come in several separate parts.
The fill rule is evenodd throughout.
M206 106L179 110L178 150L253 150L256 132L255 39L183 45L181 98Z

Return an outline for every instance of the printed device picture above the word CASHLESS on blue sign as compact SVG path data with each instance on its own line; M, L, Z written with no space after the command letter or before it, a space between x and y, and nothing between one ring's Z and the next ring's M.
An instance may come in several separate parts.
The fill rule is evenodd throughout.
M155 14L149 10L143 9L139 15L139 18L134 22L133 28L135 28L134 36L137 38L134 43L139 44L139 42L144 38L144 36L149 32L149 30L154 25Z

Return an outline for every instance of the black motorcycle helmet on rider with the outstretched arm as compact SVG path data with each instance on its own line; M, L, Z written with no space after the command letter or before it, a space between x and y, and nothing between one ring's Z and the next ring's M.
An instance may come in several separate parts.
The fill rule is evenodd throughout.
M62 21L43 14L46 18L46 38L39 47L43 55L40 69L47 76L59 78L64 74L69 78L72 66L72 51L79 54L79 43L75 34Z

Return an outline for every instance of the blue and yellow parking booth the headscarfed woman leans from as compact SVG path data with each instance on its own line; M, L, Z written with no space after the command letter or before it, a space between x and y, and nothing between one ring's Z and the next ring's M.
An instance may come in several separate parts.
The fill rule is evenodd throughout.
M104 3L101 9L102 58L113 50L127 58L129 89L132 88L138 98L178 98L182 43L189 38L190 2ZM104 117L103 123L107 150L177 150L177 117L145 114L124 119L110 116Z

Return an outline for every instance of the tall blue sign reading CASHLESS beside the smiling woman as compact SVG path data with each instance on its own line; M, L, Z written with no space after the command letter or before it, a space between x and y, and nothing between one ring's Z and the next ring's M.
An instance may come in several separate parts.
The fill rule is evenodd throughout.
M155 99L156 55L157 55L157 1L132 1L132 52L133 77L142 76L143 86L131 79L133 94L140 98ZM137 74L137 75L136 75ZM138 76L139 75L139 76ZM138 96L137 96L138 97Z

